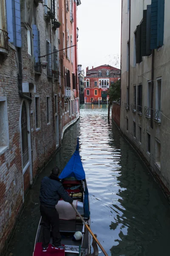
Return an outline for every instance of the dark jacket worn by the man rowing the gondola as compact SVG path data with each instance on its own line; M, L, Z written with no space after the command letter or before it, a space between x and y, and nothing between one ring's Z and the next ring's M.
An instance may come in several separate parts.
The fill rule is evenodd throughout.
M55 175L44 177L41 181L40 203L46 207L55 207L60 198L73 203L73 198L65 191L58 177Z

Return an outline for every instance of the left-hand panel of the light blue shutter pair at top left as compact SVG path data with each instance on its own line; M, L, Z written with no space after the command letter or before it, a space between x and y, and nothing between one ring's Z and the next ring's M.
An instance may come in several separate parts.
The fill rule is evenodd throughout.
M6 0L6 18L9 42L14 43L13 17L12 17L12 0Z

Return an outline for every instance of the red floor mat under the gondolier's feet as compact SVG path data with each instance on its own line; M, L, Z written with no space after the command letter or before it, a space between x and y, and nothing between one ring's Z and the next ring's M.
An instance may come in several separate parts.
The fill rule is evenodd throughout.
M65 256L65 250L52 249L51 244L49 244L47 251L43 252L42 243L37 243L33 256Z

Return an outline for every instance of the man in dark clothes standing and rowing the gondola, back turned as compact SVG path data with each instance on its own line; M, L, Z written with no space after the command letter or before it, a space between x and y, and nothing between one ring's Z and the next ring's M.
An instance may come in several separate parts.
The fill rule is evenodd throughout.
M43 235L42 250L47 251L50 243L50 230L52 231L53 243L52 248L64 249L61 245L61 235L59 233L59 214L55 208L59 199L62 198L68 203L73 203L73 199L67 194L58 177L59 168L52 169L49 177L44 177L41 181L40 189L40 212L42 216Z

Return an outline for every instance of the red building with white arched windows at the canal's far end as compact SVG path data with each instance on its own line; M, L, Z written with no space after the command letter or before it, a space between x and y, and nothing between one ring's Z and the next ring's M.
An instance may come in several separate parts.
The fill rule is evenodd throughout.
M107 102L108 88L120 78L120 70L109 65L86 67L85 104Z

